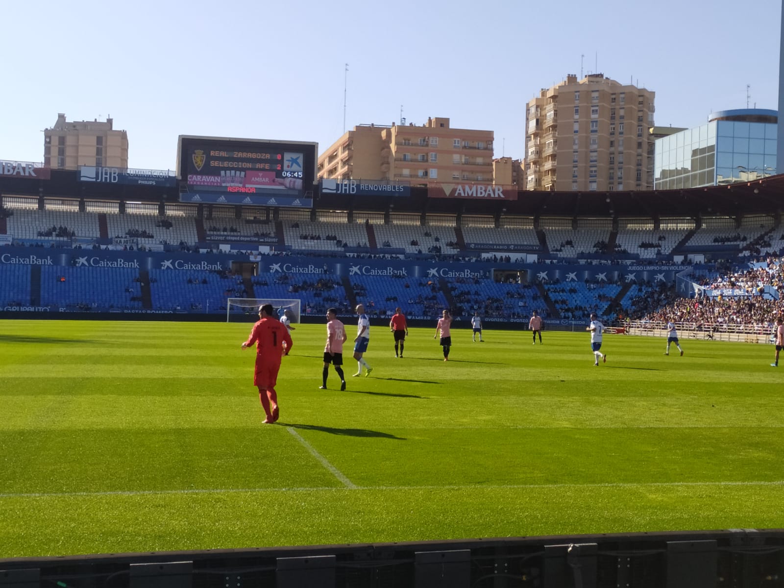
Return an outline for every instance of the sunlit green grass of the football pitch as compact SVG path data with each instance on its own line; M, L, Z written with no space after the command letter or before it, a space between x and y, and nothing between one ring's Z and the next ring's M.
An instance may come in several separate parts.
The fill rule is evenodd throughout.
M340 392L298 325L263 426L249 325L0 321L0 557L784 527L771 346L372 331Z

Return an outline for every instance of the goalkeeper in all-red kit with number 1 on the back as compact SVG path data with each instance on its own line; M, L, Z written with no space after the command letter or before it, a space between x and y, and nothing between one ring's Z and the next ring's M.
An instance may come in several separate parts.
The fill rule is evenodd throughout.
M274 317L274 308L271 304L264 304L259 308L259 321L253 325L250 336L242 349L256 343L256 369L253 372L253 385L259 388L259 400L267 414L265 424L278 420L278 394L275 384L278 383L278 371L281 368L281 358L288 355L294 344L289 335L289 329ZM285 347L283 344L285 343Z

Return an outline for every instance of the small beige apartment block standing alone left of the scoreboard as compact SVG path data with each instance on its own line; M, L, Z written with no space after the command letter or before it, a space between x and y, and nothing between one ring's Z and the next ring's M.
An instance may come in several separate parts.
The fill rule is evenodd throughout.
M57 122L44 130L44 165L53 169L78 169L80 165L128 167L128 133L115 131L114 121L65 120L57 114Z

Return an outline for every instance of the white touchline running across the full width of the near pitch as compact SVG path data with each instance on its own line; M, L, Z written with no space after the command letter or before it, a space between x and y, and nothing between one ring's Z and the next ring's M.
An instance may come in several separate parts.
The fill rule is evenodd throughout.
M304 440L303 440L304 441ZM321 458L323 459L323 457ZM334 469L334 468L333 468ZM338 470L335 470L339 475ZM0 499L13 498L70 498L91 496L140 496L140 495L180 495L180 494L239 494L243 492L322 492L368 490L383 492L403 492L406 490L554 490L561 488L691 488L695 486L730 487L730 486L784 486L784 480L777 481L717 481L717 482L599 482L597 484L506 484L506 485L426 485L426 486L358 486L347 477L346 488L335 486L310 486L292 488L186 488L181 490L107 490L103 492L20 492L18 494L0 493ZM343 480L341 480L343 481Z

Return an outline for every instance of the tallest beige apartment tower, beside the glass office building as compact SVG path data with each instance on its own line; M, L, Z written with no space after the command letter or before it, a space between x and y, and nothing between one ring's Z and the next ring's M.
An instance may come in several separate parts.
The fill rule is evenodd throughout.
M525 188L652 190L654 99L604 74L543 89L526 105Z

